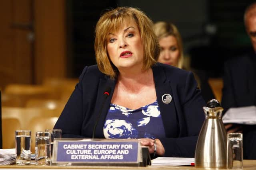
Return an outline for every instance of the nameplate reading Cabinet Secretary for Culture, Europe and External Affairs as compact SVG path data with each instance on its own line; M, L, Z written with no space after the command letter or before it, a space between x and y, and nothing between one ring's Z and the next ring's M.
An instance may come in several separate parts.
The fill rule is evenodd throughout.
M136 139L56 139L53 163L138 163L140 143Z

